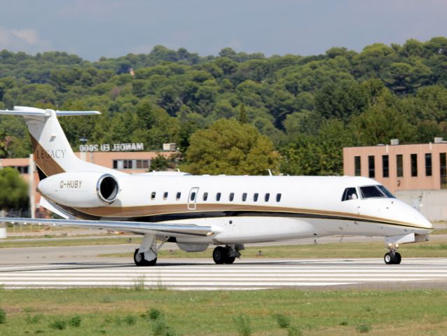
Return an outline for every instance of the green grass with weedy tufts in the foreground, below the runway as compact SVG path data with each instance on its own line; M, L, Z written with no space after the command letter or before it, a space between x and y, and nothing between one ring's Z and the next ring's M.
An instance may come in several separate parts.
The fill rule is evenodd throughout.
M0 307L0 335L245 335L243 327L250 335L413 336L447 328L447 292L434 290L1 290Z

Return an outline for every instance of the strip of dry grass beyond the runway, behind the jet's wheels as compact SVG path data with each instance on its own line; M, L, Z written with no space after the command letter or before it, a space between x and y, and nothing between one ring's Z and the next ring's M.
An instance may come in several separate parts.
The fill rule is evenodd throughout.
M261 252L260 252L261 251ZM330 243L285 246L253 246L241 251L242 258L382 258L387 250L383 243ZM447 258L447 243L427 241L404 244L399 248L403 258ZM203 252L160 250L158 258L210 258L212 248ZM104 258L133 258L133 253L99 254Z

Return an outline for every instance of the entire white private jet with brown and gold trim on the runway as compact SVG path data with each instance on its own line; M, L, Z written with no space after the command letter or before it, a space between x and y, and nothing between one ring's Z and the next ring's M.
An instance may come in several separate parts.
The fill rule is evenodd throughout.
M74 155L53 111L15 106L0 114L25 118L39 173L41 206L64 219L0 218L144 235L138 266L155 265L157 241L184 251L216 245L216 264L231 264L246 243L331 235L385 237L386 264L399 264L399 244L427 241L433 226L373 179L351 176L193 176L125 174Z

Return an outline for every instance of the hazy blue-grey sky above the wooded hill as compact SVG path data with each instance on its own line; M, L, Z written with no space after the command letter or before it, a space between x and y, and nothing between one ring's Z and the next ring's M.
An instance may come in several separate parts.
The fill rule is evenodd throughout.
M361 51L447 36L446 0L0 0L0 50L84 59L222 48L270 55Z

